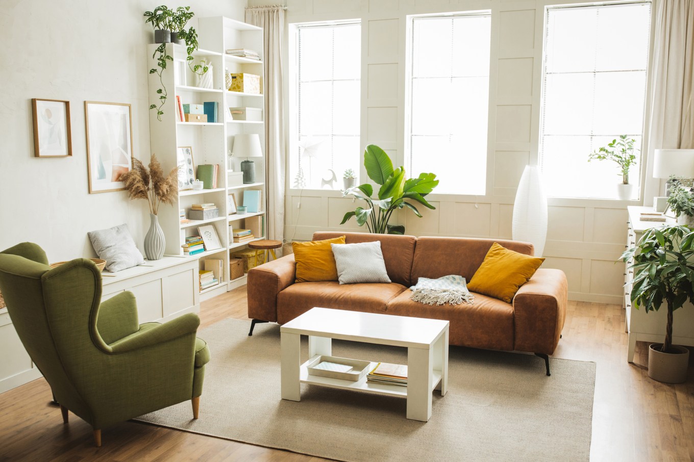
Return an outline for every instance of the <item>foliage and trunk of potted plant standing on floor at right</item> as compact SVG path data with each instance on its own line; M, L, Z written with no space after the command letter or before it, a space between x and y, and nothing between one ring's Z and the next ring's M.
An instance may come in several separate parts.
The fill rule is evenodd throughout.
M694 303L694 231L686 226L651 228L622 260L634 259L632 303L637 308L658 311L666 302L668 323L661 351L671 353L672 311L689 300Z

